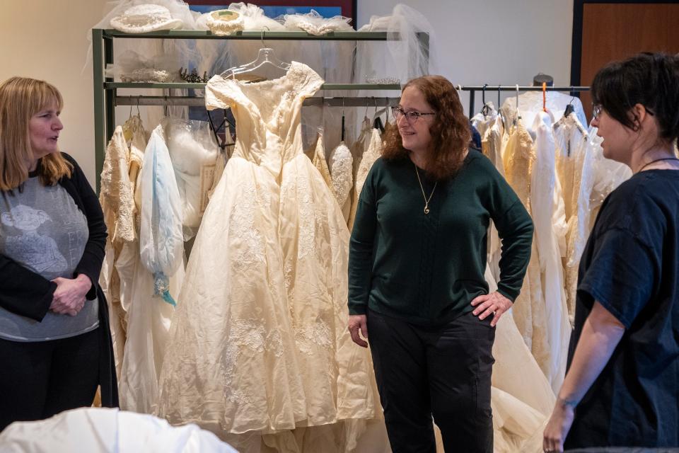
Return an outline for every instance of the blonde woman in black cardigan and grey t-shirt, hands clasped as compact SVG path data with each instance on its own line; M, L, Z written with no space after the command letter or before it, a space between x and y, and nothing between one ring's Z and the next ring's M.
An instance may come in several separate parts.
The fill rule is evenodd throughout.
M81 168L59 152L62 95L45 81L0 84L0 431L117 406L106 302L106 226Z

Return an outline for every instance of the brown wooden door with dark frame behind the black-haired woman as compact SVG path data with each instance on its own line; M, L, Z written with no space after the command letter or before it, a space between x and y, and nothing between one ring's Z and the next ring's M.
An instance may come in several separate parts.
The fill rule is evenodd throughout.
M638 52L678 53L678 24L677 1L575 0L571 84L590 86L605 64ZM591 120L590 94L581 101Z

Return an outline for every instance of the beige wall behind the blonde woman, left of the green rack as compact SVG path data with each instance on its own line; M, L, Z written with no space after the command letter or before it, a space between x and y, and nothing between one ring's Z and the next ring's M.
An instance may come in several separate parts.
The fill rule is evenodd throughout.
M105 0L0 0L0 80L44 79L64 96L59 146L94 182L92 65L84 71L88 30Z

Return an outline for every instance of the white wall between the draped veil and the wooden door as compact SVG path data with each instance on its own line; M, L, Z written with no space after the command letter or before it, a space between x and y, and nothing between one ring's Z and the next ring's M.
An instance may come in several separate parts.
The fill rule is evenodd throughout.
M530 85L539 72L570 85L573 0L359 0L357 21L368 23L399 3L429 20L437 70L455 85ZM497 103L497 93L487 100ZM466 112L466 93L463 105Z

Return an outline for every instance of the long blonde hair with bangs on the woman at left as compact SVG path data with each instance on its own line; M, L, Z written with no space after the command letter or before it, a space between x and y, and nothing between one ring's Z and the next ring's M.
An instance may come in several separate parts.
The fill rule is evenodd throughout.
M28 166L34 159L30 146L29 123L40 110L64 101L53 85L42 80L11 77L0 84L0 190L12 190L28 179ZM43 185L54 185L71 176L73 166L60 152L40 160L38 176Z

